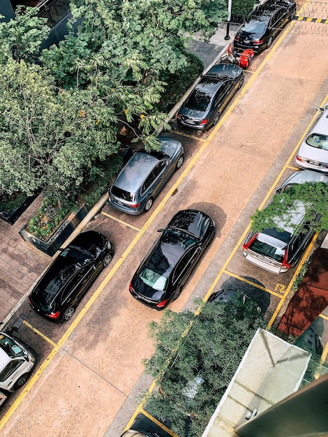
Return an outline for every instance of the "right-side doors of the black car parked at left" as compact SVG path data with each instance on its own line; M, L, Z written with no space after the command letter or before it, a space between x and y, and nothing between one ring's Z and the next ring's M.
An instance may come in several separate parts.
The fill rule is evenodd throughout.
M84 265L73 276L61 294L61 311L70 306L76 306L89 288L97 273L94 264Z

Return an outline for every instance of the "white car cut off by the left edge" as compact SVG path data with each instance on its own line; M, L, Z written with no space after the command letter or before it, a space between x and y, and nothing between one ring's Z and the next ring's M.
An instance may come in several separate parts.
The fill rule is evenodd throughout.
M22 387L38 359L38 354L24 341L0 332L0 390L14 392Z

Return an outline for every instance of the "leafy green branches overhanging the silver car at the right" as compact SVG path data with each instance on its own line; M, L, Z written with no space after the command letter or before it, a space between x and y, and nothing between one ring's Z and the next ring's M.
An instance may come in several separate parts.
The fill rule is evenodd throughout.
M288 215L291 209L295 209L295 204L301 202L305 208L305 220L311 221L313 213L321 214L320 221L315 223L315 230L328 229L328 185L324 182L306 182L305 184L295 184L284 190L283 193L274 194L269 205L258 209L251 216L252 229L261 232L263 229L279 228L283 217L284 224L290 225L297 230L297 224L292 223L292 214Z

